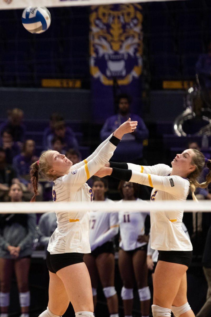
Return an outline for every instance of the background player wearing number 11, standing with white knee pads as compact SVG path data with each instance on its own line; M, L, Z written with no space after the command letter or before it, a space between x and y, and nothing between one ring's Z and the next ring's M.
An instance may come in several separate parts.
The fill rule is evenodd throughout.
M138 185L121 181L119 190L124 200L138 200ZM120 250L119 250L119 270L123 287L121 298L124 305L125 317L132 317L133 311L133 288L136 282L142 317L149 317L150 290L147 285L148 269L146 266L147 243L142 242L145 234L145 219L147 213L144 212L119 212L120 224Z

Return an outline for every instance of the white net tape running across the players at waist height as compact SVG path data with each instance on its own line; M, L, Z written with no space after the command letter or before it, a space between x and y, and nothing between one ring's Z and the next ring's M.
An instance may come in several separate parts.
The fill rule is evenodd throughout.
M188 200L180 202L176 200L168 201L124 201L118 202L94 201L87 202L20 202L20 203L0 203L0 213L44 213L50 211L85 212L87 210L100 210L101 212L149 212L150 211L171 211L184 210L186 212L211 212L211 202L201 200L199 203Z

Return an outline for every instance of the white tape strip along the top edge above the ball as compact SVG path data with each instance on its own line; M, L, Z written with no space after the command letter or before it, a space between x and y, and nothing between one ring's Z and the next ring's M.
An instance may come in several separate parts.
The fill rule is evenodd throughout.
M29 6L39 7L72 7L87 5L105 5L118 3L162 2L172 0L0 0L0 10L24 9ZM183 0L177 0L183 1Z

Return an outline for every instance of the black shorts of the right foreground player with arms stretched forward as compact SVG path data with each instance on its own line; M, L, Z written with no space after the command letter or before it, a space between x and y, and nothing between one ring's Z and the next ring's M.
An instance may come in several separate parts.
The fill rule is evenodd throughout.
M159 251L158 261L165 261L171 263L178 263L190 266L193 251Z

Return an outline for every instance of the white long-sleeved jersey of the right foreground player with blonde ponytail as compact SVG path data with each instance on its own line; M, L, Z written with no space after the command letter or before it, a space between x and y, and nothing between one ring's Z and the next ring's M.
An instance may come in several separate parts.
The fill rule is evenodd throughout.
M185 201L189 193L189 180L177 175L170 176L168 165L140 166L128 163L132 169L130 182L151 186L151 200ZM151 248L161 251L191 251L190 240L182 229L183 210L152 211Z

